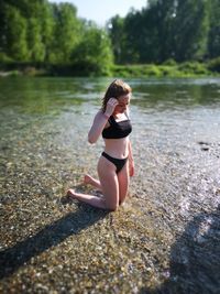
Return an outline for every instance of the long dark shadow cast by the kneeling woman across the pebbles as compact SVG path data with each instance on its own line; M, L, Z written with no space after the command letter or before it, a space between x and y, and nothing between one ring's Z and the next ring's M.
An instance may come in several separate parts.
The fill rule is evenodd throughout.
M70 213L35 236L25 239L0 252L0 280L14 273L32 257L38 255L51 247L57 246L72 235L105 218L108 211L80 204L76 213Z

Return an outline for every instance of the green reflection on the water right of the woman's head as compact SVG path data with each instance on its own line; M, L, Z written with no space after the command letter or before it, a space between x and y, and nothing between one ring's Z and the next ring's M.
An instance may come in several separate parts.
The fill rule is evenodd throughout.
M143 108L174 109L220 104L218 84L140 84L132 104Z

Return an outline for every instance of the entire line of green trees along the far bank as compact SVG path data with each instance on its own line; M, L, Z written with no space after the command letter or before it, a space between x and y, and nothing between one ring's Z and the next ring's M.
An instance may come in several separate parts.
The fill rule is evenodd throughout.
M0 1L0 63L106 75L112 64L162 64L220 56L219 0L148 0L106 28L72 3Z

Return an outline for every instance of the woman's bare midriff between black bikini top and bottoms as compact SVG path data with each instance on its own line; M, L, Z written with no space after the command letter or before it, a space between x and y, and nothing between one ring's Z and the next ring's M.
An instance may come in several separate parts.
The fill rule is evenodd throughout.
M125 159L129 155L129 137L121 139L105 139L105 152L114 159Z

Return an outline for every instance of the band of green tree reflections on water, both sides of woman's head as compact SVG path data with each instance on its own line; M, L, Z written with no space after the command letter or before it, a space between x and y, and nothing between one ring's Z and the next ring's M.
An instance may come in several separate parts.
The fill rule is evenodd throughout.
M3 78L0 106L48 113L85 101L100 101L111 78ZM167 109L219 104L219 79L128 79L132 105Z

